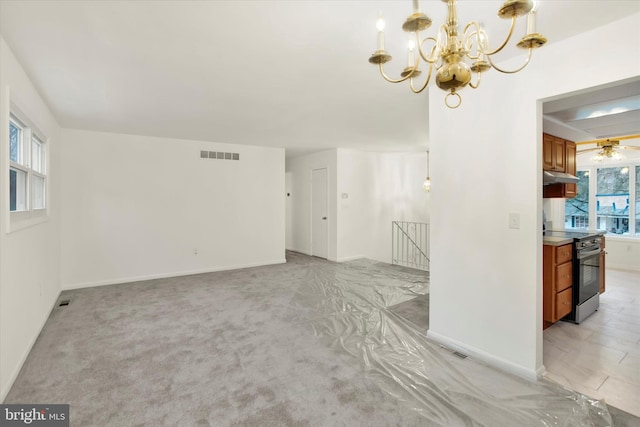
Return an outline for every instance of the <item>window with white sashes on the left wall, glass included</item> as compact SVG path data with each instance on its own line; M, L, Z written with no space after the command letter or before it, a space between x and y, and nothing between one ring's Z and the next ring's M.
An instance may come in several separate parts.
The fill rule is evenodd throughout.
M20 116L20 118L18 118ZM9 210L41 211L47 206L47 144L22 115L9 117Z

